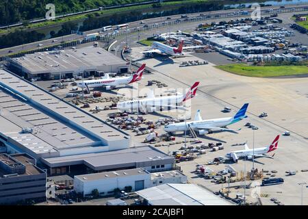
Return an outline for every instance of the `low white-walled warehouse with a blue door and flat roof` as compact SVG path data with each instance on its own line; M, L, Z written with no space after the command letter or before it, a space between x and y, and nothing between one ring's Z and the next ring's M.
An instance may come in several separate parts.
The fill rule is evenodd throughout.
M114 194L115 189L138 191L164 183L186 183L187 177L178 170L151 173L144 168L78 175L74 178L74 190L89 196L97 189L101 196Z

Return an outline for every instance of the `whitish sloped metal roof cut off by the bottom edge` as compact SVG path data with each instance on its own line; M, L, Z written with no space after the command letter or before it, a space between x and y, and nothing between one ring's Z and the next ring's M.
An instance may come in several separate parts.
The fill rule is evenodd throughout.
M168 183L136 192L149 205L233 205L194 184Z

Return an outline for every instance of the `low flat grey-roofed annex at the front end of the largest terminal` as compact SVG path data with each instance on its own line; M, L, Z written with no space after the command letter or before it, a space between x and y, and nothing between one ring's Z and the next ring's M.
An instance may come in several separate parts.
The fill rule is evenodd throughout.
M174 157L170 157L152 146L42 159L42 163L51 169L53 175L66 173L80 175L133 168L159 172L172 170L174 161Z

